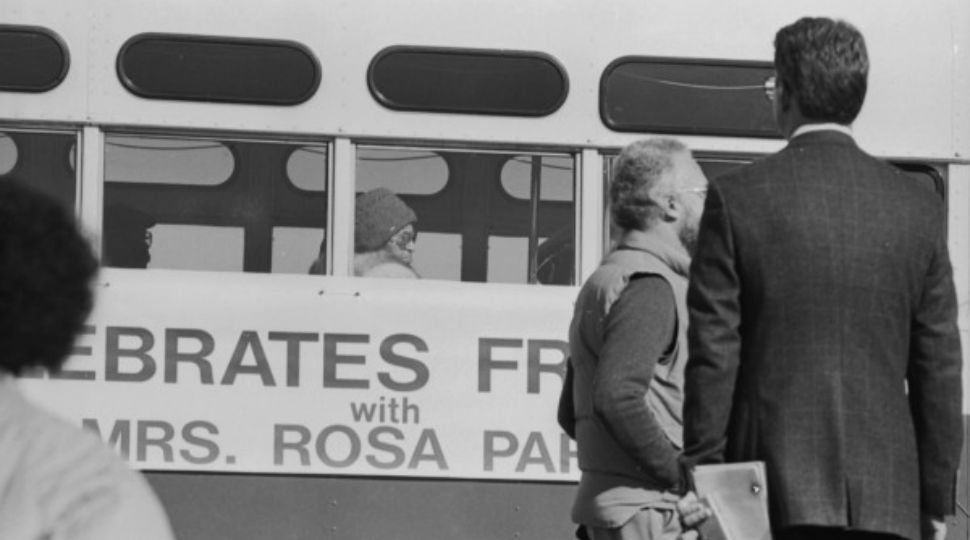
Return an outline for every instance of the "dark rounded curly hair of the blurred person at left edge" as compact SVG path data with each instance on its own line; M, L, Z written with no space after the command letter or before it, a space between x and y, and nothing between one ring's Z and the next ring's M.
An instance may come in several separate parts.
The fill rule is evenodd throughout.
M0 370L60 369L91 311L97 270L65 208L0 182Z

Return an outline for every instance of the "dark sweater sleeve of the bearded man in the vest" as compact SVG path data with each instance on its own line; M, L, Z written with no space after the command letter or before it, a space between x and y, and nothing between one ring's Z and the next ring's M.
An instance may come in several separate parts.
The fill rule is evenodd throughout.
M675 341L677 309L662 277L636 276L610 308L593 380L593 406L624 450L654 478L675 485L679 452L645 395L654 366Z

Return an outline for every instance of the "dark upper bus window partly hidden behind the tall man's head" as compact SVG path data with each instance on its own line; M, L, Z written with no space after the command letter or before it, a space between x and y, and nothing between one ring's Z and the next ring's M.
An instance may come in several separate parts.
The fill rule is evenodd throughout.
M770 62L624 57L600 80L600 117L616 131L781 138L765 83Z

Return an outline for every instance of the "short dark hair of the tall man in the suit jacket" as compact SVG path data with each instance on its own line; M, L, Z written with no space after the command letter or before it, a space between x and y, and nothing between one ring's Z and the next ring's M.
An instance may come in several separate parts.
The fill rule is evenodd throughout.
M775 34L775 71L806 119L850 124L866 97L866 43L847 22L805 17Z

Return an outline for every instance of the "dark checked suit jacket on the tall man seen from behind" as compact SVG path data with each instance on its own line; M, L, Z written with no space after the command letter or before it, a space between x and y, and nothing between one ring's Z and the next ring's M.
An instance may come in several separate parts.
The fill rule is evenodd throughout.
M772 527L952 514L961 353L940 197L817 131L714 180L688 292L686 466L763 460Z

